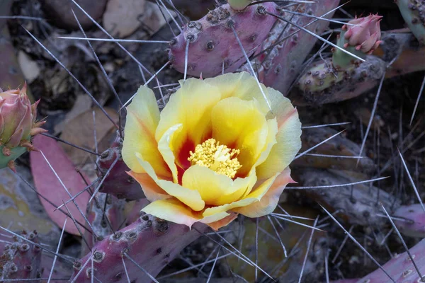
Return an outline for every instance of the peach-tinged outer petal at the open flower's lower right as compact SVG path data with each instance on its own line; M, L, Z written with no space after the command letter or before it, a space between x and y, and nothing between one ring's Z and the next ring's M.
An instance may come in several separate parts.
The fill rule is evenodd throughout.
M269 179L270 180L270 179ZM271 214L279 202L279 197L282 195L283 190L289 183L294 183L290 178L290 169L286 168L285 171L280 173L273 185L266 191L258 202L253 202L246 207L239 207L232 209L232 211L244 214L247 217L260 217ZM247 197L252 197L248 195Z

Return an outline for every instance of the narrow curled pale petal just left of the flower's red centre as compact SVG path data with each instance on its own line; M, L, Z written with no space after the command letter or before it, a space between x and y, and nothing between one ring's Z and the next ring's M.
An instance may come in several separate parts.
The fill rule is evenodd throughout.
M174 183L179 183L179 178L177 176L177 167L175 163L175 157L173 152L172 140L181 131L183 125L178 124L170 127L166 130L164 135L158 141L158 150L162 154L165 163L169 166L171 173L173 175Z

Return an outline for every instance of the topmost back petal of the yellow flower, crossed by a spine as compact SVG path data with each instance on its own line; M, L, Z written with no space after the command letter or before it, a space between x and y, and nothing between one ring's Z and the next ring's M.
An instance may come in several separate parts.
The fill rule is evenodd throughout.
M284 98L282 93L274 91L273 88L266 88L262 83L261 88L263 89L263 93L261 93L254 76L251 76L251 74L246 71L228 73L222 76L216 76L215 78L205 79L205 81L220 89L222 99L234 96L242 100L255 99L259 101L260 109L263 113L268 113L270 111L263 93L266 95L271 105L272 112L278 111L278 105L280 105L281 100ZM270 92L270 90L274 92Z

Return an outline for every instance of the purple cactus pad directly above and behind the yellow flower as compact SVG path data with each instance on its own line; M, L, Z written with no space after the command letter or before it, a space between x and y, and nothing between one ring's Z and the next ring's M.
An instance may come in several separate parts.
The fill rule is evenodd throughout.
M182 73L187 69L187 74L198 77L202 74L204 78L222 74L223 68L226 72L236 71L244 59L232 26L251 56L260 50L276 22L276 18L266 12L279 13L276 8L276 4L270 2L235 11L225 4L210 11L200 20L189 22L183 32L170 41L170 62ZM189 54L187 67L186 53Z

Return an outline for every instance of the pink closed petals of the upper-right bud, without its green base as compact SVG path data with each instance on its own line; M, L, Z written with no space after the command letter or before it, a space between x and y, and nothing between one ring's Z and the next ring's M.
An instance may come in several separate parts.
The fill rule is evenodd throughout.
M344 25L346 30L344 47L353 46L356 50L371 54L380 45L380 20L382 16L370 15L363 18L355 18Z

